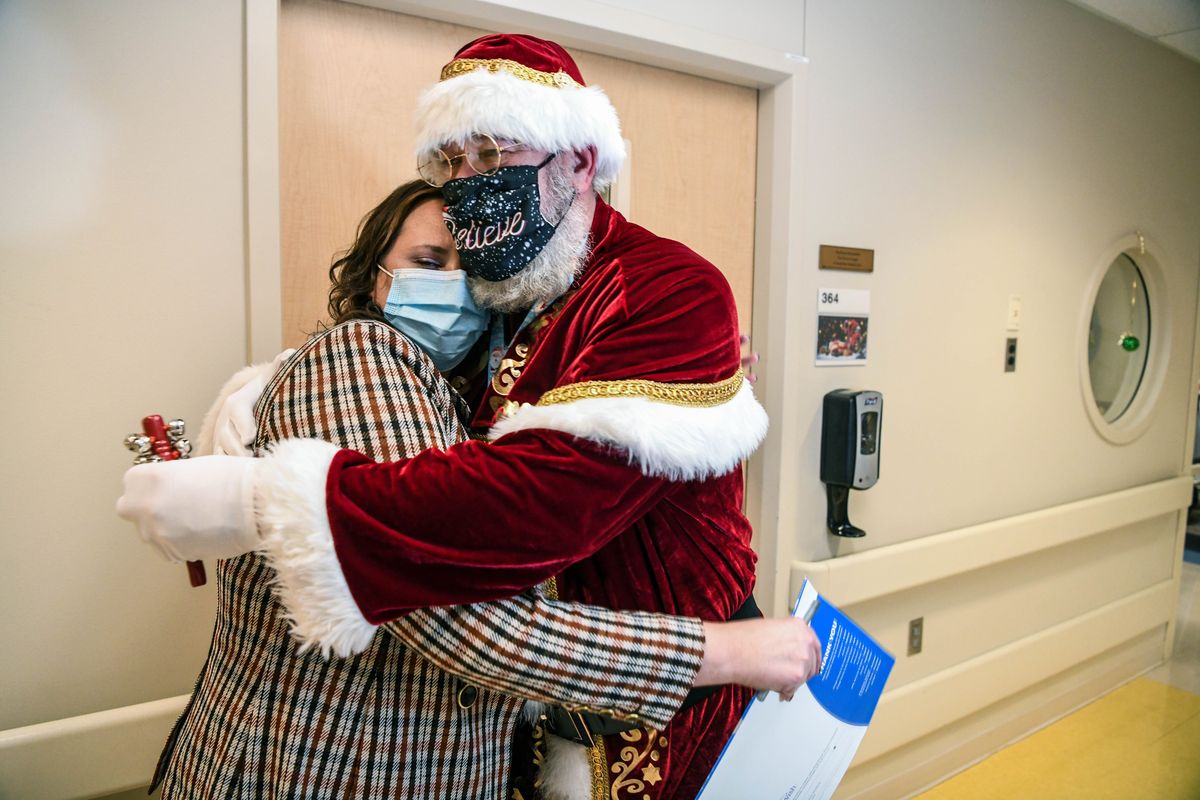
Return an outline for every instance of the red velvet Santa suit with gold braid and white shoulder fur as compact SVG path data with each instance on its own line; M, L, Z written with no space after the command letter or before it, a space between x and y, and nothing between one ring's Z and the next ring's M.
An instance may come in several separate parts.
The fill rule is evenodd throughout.
M366 620L505 597L556 576L564 599L708 620L749 596L740 461L766 415L740 374L728 285L602 201L592 236L572 290L527 326L492 380L476 417L498 409L490 443L386 464L312 456L335 566ZM281 511L274 541L314 522L289 517ZM305 576L312 554L289 546L275 561L298 633L340 636L341 622L318 618L354 608L330 614ZM612 796L695 796L748 698L724 687L662 732L605 738L610 766L599 772Z

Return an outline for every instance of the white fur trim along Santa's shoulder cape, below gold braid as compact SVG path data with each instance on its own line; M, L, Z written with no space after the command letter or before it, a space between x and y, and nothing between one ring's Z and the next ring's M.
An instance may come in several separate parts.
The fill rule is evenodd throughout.
M518 407L492 426L498 439L516 431L550 428L610 445L643 474L676 481L724 475L767 435L767 411L745 380L726 403L674 405L647 397L595 397L552 405Z

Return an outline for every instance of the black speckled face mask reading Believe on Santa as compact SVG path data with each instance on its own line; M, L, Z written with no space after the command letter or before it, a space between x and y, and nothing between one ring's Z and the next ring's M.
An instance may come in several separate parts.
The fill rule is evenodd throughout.
M511 278L546 247L558 223L541 216L538 172L553 157L536 167L502 167L493 175L458 178L442 187L446 201L442 217L467 275Z

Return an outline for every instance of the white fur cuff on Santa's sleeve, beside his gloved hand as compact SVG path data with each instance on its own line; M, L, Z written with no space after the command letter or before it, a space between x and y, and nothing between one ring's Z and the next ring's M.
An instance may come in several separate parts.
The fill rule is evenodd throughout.
M325 480L337 446L284 439L257 470L254 511L263 552L277 572L275 593L301 652L317 648L346 657L371 644L376 627L362 616L342 575L325 510Z

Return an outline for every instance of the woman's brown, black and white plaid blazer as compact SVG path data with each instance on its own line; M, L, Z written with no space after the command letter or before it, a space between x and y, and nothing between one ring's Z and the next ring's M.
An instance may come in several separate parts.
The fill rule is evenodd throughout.
M338 325L268 384L256 450L312 437L377 459L464 437L457 399L394 329ZM502 800L523 700L661 727L703 652L697 620L558 602L541 591L416 612L366 651L300 652L265 559L217 565L208 660L160 758L163 798Z

